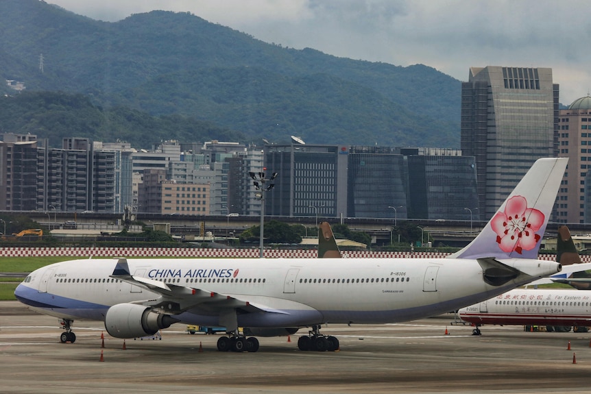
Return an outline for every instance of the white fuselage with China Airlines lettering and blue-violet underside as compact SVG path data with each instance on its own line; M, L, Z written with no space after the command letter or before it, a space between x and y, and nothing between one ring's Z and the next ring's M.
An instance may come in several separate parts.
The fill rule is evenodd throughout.
M468 259L130 259L134 277L246 301L264 312L238 313L240 327L297 328L321 323L409 321L483 301L559 271L556 262L502 260L527 275L492 286ZM62 319L104 320L116 304L158 294L111 278L117 259L69 260L31 273L15 295ZM228 307L230 308L230 306ZM223 309L223 308L221 308ZM174 315L182 323L221 325L207 301Z

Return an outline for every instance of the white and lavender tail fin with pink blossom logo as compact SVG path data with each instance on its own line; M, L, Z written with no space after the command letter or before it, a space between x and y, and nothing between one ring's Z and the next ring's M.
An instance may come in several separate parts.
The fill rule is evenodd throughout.
M538 258L568 158L533 163L474 241L449 258Z

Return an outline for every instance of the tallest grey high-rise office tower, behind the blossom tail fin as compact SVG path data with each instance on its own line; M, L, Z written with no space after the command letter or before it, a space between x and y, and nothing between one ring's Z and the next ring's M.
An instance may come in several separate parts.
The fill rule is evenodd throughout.
M481 219L535 160L558 155L558 90L552 69L470 68L461 86L461 150L476 158Z

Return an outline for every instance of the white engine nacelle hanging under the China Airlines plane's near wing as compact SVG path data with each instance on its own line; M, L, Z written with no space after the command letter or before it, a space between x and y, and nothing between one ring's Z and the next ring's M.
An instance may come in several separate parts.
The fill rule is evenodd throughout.
M152 312L147 306L117 304L111 306L105 315L105 328L115 338L138 338L154 335L162 328L169 328L179 321L169 315Z

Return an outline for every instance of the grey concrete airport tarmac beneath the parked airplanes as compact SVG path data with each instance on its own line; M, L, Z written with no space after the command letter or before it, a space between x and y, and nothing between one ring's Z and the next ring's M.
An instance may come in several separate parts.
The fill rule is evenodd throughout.
M123 349L123 340L108 336L100 322L76 321L76 342L62 344L58 319L29 312L16 301L0 301L0 393L590 390L591 334L485 326L482 336L472 336L470 326L451 322L323 327L322 332L339 338L339 352L300 352L295 334L291 342L259 338L256 353L221 353L218 336L190 335L178 324L163 330L162 340L128 340Z

